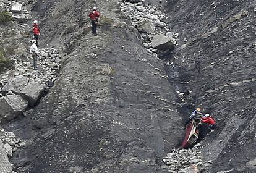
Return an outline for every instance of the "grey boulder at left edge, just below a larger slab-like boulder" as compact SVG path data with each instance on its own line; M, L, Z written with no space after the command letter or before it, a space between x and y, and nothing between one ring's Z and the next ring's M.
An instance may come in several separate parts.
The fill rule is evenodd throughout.
M12 120L20 116L28 107L28 101L19 95L7 95L0 98L0 119Z

